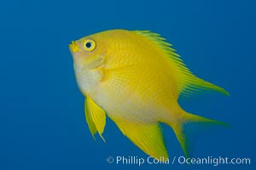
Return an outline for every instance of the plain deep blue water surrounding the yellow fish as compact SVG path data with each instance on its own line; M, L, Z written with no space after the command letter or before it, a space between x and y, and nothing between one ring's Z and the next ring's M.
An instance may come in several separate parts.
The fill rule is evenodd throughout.
M255 1L2 1L0 3L0 169L256 169ZM232 128L201 138L195 157L249 157L251 165L108 164L147 158L107 120L96 142L84 121L68 43L113 28L150 30L174 44L190 70L230 92L181 105ZM163 126L169 156L183 156Z

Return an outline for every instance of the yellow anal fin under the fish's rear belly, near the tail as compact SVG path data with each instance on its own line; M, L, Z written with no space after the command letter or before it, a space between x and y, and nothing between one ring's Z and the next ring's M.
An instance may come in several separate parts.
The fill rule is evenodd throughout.
M119 129L128 139L136 144L149 156L160 159L168 158L162 132L158 123L139 124L131 122L116 122Z

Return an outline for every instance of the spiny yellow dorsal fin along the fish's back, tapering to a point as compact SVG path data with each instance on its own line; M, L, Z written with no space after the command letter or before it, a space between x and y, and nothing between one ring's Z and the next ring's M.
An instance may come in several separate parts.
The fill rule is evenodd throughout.
M171 59L172 64L175 65L176 70L179 73L177 76L179 94L187 96L201 90L210 90L229 95L229 93L225 91L224 88L220 88L211 82L206 82L201 78L195 77L195 75L189 71L187 66L183 63L183 60L180 58L180 56L175 53L175 49L171 48L172 44L166 42L166 38L160 37L160 34L151 31L134 32L154 42L155 45L160 48L164 54L166 54L166 58Z

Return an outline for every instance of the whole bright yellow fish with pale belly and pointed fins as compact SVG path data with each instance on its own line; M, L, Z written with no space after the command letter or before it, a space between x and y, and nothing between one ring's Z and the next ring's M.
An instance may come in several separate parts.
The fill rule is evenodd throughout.
M226 125L180 107L181 94L202 89L229 94L195 77L165 40L150 31L110 30L69 45L93 137L102 137L107 115L146 154L167 158L160 122L172 127L185 156L191 150L189 124Z

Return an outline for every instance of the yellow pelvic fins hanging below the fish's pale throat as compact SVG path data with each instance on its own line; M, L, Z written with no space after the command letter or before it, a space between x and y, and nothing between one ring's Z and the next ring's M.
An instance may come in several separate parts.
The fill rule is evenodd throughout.
M85 119L89 126L90 133L94 138L96 133L99 133L102 140L105 142L105 139L102 137L104 132L104 127L106 125L106 114L102 108L90 98L86 96L84 103Z

